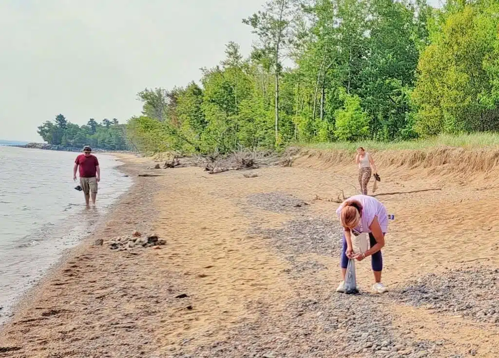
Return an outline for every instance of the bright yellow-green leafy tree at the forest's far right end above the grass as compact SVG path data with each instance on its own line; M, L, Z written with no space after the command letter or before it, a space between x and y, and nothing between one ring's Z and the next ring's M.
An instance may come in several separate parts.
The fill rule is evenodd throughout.
M421 135L497 130L498 3L451 1L448 6L450 13L430 34L432 43L419 59L416 130Z

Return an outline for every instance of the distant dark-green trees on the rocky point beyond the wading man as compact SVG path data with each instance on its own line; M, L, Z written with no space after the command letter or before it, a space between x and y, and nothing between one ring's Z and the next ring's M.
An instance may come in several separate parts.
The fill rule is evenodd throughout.
M46 143L66 148L90 145L106 150L131 150L126 138L126 125L119 124L116 118L105 118L101 123L91 118L86 125L78 126L59 114L54 121L46 121L39 126L38 134Z

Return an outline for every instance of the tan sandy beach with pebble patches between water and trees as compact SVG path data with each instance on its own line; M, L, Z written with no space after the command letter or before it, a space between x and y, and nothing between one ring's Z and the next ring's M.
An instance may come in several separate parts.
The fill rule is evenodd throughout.
M375 154L375 194L395 215L383 249L390 292L369 292L367 260L362 295L348 296L334 292L330 201L354 194L346 154L301 151L256 178L151 170L151 159L121 155L135 183L20 303L0 357L497 357L498 158ZM110 249L134 231L166 244Z

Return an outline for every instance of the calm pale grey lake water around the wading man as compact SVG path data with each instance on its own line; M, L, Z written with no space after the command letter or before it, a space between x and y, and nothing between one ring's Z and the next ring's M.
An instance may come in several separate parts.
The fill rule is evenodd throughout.
M77 155L0 146L0 323L12 303L92 230L131 183L115 158L97 153L102 177L97 205L85 209L72 179Z

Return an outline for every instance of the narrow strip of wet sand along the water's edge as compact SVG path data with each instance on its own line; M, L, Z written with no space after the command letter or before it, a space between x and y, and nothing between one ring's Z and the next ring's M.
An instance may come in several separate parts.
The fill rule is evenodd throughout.
M18 147L19 148L19 146L10 146L10 147ZM34 295L40 289L41 285L46 280L48 280L52 277L52 275L55 273L55 271L57 269L59 269L60 266L63 265L67 261L68 257L70 255L72 255L76 250L79 250L82 245L85 245L85 243L87 243L87 241L99 229L99 227L101 227L105 223L108 216L110 216L112 214L112 212L115 210L115 206L118 205L119 202L121 202L123 200L123 198L125 198L128 195L128 193L130 192L132 187L136 184L136 179L134 177L132 177L132 175L131 175L131 174L134 174L133 168L132 169L129 168L130 166L133 167L133 165L131 165L130 163L127 163L127 161L130 161L130 159L132 159L132 156L133 156L132 154L109 153L109 152L108 153L100 153L100 154L113 156L114 157L113 160L120 163L116 166L116 169L118 170L118 172L122 173L124 176L130 177L131 183L130 183L129 187L126 189L126 191L124 191L123 193L121 193L119 196L117 196L114 199L115 201L110 205L108 212L106 212L104 215L101 215L101 217L98 218L98 221L94 225L92 225L90 232L87 232L86 234L84 234L75 246L63 250L60 253L59 258L57 258L48 267L48 269L45 272L43 272L41 277L36 279L33 285L25 288L24 292L22 292L18 297L16 297L13 300L13 303L8 308L8 312L10 312L10 314L1 320L0 332L2 331L2 329L5 326L7 326L11 322L11 320L14 318L14 316L18 312L20 312L26 305L29 304L29 302L31 302ZM78 214L74 213L73 215L78 215ZM2 309L4 309L4 308L2 307Z

